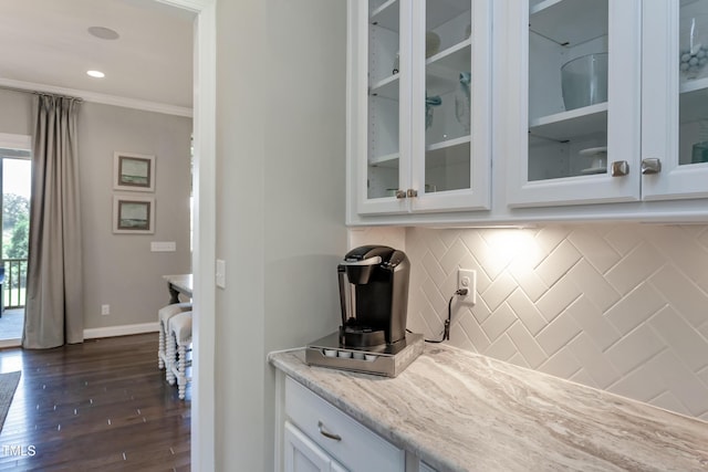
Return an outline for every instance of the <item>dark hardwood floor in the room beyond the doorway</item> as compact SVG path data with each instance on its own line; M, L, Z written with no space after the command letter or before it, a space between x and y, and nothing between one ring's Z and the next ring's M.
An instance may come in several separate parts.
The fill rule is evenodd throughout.
M157 368L157 334L0 350L22 370L0 432L0 471L188 471L190 388Z

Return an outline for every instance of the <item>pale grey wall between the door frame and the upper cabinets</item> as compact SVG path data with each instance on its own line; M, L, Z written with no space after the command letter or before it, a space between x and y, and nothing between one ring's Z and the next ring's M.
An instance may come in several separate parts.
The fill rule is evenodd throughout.
M344 0L218 2L217 470L273 469L266 355L337 326Z

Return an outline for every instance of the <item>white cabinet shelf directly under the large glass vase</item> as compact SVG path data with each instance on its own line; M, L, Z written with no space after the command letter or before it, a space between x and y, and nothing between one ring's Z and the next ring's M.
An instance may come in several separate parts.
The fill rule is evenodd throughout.
M570 112L556 113L531 119L532 135L554 140L568 140L607 129L607 103L585 106Z

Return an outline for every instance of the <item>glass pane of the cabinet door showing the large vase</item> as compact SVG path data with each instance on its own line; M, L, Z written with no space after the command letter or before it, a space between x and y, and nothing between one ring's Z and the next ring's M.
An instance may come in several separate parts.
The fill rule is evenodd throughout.
M608 0L563 3L531 2L529 181L607 174Z

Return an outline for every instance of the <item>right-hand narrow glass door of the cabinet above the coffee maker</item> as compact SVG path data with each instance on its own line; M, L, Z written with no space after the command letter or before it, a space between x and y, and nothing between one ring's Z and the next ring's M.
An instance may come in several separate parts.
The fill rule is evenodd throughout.
M425 0L414 15L414 210L489 208L487 0Z

